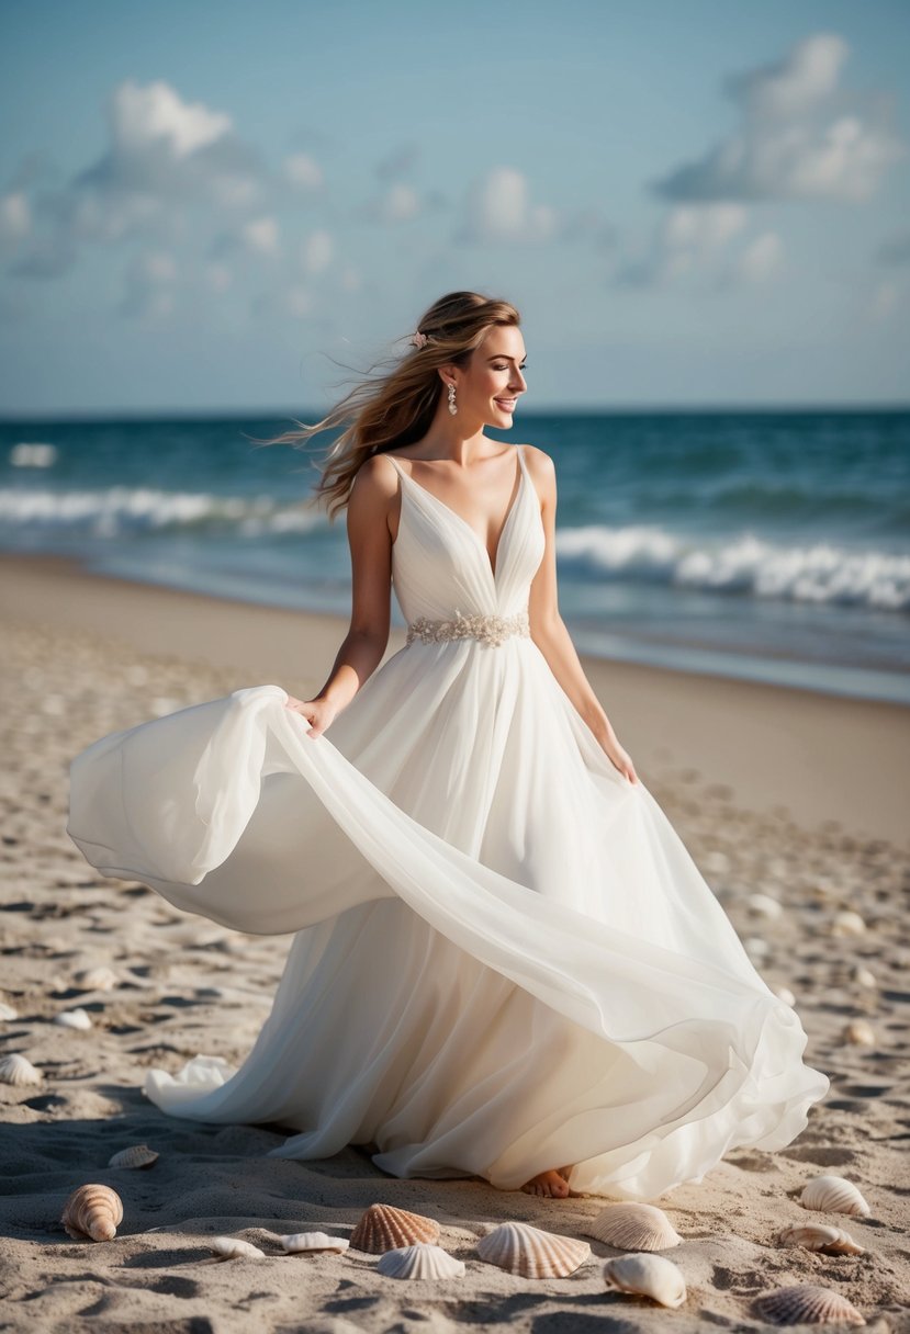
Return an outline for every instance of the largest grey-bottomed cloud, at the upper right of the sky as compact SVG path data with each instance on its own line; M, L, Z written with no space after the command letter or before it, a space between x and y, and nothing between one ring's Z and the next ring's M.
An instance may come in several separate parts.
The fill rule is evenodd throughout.
M881 104L867 113L838 89L849 47L837 33L725 83L741 127L703 157L652 181L670 200L863 200L906 147Z

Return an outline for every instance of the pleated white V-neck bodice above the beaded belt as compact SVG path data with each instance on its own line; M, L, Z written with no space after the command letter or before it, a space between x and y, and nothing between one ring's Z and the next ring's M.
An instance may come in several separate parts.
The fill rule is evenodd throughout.
M518 451L519 486L496 547L496 568L475 530L388 455L402 478L402 511L392 544L392 587L407 622L424 616L510 616L527 608L546 539L540 502Z

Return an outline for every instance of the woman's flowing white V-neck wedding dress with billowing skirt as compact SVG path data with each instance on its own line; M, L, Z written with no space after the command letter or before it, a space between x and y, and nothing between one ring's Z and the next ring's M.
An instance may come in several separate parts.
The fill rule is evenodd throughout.
M395 464L404 618L486 635L414 638L315 739L272 684L107 736L72 763L68 830L105 875L298 932L236 1073L149 1073L171 1115L295 1129L284 1158L355 1143L503 1189L572 1165L575 1190L652 1199L790 1143L829 1081L644 783L534 640L495 632L544 547L516 452L495 571Z

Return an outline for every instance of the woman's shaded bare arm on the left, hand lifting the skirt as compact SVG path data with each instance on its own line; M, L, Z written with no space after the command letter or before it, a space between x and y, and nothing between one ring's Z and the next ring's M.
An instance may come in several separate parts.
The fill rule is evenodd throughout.
M392 539L388 531L390 503L398 476L379 458L367 459L354 479L347 506L351 548L351 626L332 670L312 699L288 699L288 708L310 722L310 736L319 736L351 703L364 680L382 662L391 624Z

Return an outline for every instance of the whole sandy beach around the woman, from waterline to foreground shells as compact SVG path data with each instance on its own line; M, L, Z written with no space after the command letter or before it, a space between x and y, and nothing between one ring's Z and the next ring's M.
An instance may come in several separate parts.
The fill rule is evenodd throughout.
M619 1253L596 1241L563 1279L514 1277L475 1254L490 1225L507 1219L582 1237L604 1199L399 1181L358 1149L324 1162L267 1158L280 1127L177 1121L144 1098L149 1066L176 1071L197 1053L242 1062L291 938L239 935L97 876L65 834L68 763L107 732L242 686L276 682L306 698L346 624L93 578L45 558L4 559L0 571L0 1002L16 1013L0 1022L0 1055L21 1053L43 1077L0 1083L0 1329L750 1330L765 1327L758 1294L821 1283L871 1327L910 1330L910 710L584 659L642 779L763 976L794 994L807 1062L831 1078L791 1146L734 1151L702 1183L659 1201L683 1237L666 1254L689 1289L668 1311L607 1294L602 1263ZM402 642L394 632L390 652ZM77 975L95 967L113 976L87 990ZM88 1030L53 1022L76 1007ZM152 1167L107 1166L133 1143L157 1150ZM821 1173L853 1179L871 1217L803 1210L799 1190ZM111 1242L72 1241L59 1223L85 1182L123 1198ZM286 1257L272 1239L307 1229L347 1237L376 1201L438 1219L440 1245L466 1275L403 1282L359 1251ZM809 1221L846 1227L865 1253L775 1246L779 1227ZM207 1242L224 1234L270 1258L212 1262Z

